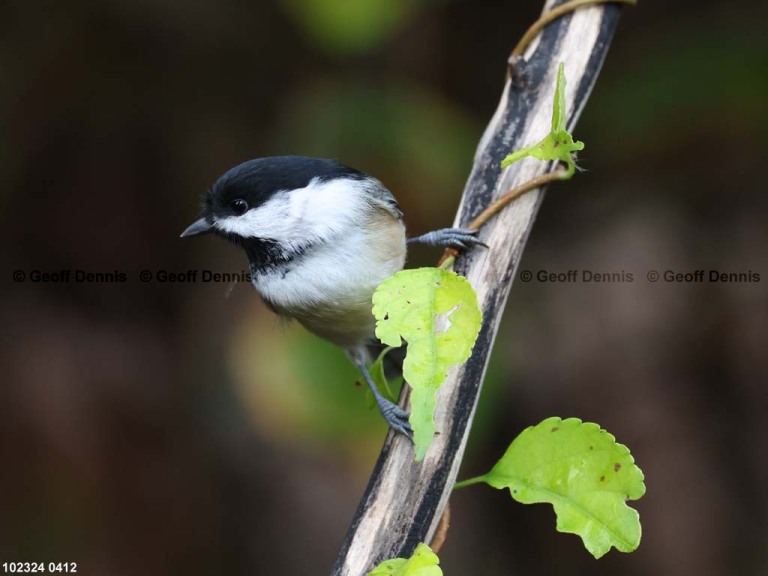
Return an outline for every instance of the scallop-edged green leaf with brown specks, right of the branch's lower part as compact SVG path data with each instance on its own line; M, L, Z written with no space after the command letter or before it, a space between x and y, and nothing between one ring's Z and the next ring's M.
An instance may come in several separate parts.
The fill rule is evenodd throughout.
M463 484L477 481L509 488L523 504L551 503L557 530L581 536L595 558L611 546L632 552L640 545L640 517L626 501L645 494L643 473L597 424L554 417L531 426L488 474Z

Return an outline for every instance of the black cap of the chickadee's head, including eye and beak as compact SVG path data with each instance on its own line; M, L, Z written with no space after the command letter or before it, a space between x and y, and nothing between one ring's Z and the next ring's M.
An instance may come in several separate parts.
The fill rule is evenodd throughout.
M184 232L182 238L220 232L216 222L237 218L258 208L278 192L305 188L312 180L336 178L363 179L366 175L335 160L306 156L257 158L235 166L221 176L208 191L203 214ZM231 236L232 232L227 232Z

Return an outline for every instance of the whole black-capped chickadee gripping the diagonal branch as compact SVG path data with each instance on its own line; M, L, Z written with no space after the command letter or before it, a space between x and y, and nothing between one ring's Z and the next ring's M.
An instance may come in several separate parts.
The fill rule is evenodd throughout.
M482 243L463 228L406 240L402 216L392 193L367 174L334 160L276 156L250 160L219 178L202 218L181 237L213 232L243 248L267 306L342 348L387 423L410 436L408 413L379 393L368 372L368 350L378 342L373 292L402 270L409 243Z

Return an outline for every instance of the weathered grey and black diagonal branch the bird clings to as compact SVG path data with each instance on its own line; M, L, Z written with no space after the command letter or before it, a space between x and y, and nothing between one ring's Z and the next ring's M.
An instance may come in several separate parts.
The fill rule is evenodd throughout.
M562 4L548 0L545 11ZM552 22L513 59L501 102L480 140L455 225L466 226L494 199L554 169L525 159L500 171L512 150L549 132L558 64L565 62L568 128L572 129L597 79L618 23L619 6L580 9ZM543 199L536 189L515 200L483 228L488 250L458 258L455 270L478 294L483 326L469 361L440 389L435 437L423 462L401 435L390 433L334 567L334 576L362 576L387 558L408 557L434 534L456 480L488 358L512 280Z

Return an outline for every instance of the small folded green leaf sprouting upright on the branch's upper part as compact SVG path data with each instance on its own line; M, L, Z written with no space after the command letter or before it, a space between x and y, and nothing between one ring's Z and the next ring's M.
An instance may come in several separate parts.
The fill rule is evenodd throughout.
M538 144L509 154L502 160L501 167L506 168L528 156L538 158L539 160L557 160L568 165L568 170L561 176L563 180L568 180L576 171L576 161L573 158L573 153L583 150L584 143L573 141L573 136L565 128L566 120L565 66L561 62L557 70L557 86L552 104L552 131Z

